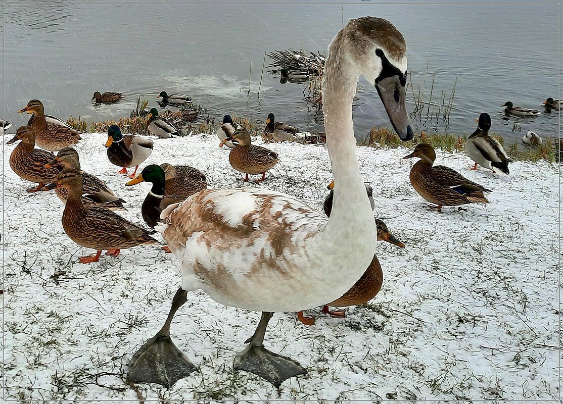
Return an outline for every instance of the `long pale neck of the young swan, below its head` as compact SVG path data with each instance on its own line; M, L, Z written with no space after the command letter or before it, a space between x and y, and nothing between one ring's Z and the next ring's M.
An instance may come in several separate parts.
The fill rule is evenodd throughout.
M355 230L356 236L367 236L373 240L376 226L358 166L352 122L352 102L359 70L347 59L345 52L335 47L333 43L323 78L323 112L335 185L329 227L332 227L331 232L339 231L341 226L346 227ZM331 223L334 227L330 226Z

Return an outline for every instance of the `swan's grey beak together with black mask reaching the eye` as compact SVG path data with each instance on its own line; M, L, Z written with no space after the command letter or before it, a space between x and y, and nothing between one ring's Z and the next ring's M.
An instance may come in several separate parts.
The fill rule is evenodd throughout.
M409 115L406 113L405 87L406 72L403 73L392 65L381 49L376 50L376 55L381 59L381 73L374 86L385 106L389 120L403 142L413 138L413 129L410 126Z

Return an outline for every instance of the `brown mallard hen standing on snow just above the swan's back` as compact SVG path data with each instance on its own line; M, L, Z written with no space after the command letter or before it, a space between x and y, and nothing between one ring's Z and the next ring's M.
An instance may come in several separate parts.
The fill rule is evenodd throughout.
M246 129L236 129L233 136L226 137L219 146L229 141L236 145L229 153L229 162L235 170L247 174L243 181L250 181L248 174L262 174L261 179L254 181L262 182L266 178L266 171L278 164L278 153L266 147L251 145L250 132Z

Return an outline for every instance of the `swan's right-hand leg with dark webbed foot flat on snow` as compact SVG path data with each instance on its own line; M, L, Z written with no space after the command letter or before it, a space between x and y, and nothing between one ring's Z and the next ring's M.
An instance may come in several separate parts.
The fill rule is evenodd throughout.
M274 313L271 312L262 312L256 331L245 341L249 343L248 347L236 354L234 368L254 373L274 384L275 387L280 387L285 379L306 374L307 370L298 362L264 348L264 334L268 321L273 315Z

